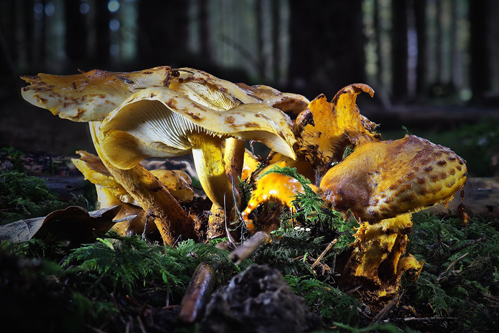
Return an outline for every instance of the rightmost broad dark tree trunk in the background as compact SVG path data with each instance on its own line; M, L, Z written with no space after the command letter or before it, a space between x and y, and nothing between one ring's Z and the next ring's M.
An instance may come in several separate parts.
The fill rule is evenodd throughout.
M473 102L483 102L483 93L490 87L487 48L489 8L490 3L488 0L472 1L470 3L470 69Z

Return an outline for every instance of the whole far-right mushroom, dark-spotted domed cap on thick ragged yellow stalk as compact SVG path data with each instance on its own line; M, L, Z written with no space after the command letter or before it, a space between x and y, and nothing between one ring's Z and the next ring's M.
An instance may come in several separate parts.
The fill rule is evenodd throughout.
M401 256L411 232L411 213L446 204L466 181L465 161L455 152L414 135L361 145L322 178L331 208L348 210L363 223L341 275L344 288L383 305L397 295L401 274L422 264ZM376 305L377 306L377 305Z

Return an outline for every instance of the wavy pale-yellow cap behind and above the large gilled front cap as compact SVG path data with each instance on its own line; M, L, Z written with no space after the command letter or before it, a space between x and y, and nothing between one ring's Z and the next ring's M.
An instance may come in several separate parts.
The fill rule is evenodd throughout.
M220 79L205 71L180 68L172 77L170 88L214 110L227 110L242 103L262 103L282 111L303 110L308 100L298 94L283 93L272 87L248 86Z

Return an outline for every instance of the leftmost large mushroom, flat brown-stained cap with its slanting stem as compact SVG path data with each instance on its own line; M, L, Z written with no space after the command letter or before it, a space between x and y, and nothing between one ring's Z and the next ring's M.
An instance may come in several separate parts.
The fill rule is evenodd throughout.
M154 217L165 243L173 244L180 234L184 237L194 237L192 219L154 175L142 165L129 170L116 168L103 157L100 149L99 120L113 110L115 104L121 103L131 95L135 90L132 89L136 87L135 84L139 85L137 89L157 83L167 86L171 68L156 67L133 73L94 70L89 73L92 74L24 76L22 78L32 85L22 88L21 94L30 103L47 108L62 118L89 122L90 133L99 157L116 181L139 202L149 216ZM95 98L87 100L89 95L97 92L98 96L93 97L99 97L104 102ZM106 99L106 96L110 99ZM109 102L106 103L105 100ZM83 102L88 104L83 107ZM169 207L168 210L164 209L166 206Z

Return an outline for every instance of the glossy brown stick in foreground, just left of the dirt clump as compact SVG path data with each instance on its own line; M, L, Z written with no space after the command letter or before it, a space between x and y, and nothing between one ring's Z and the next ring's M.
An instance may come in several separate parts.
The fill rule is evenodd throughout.
M203 260L194 271L191 281L180 303L178 319L193 323L203 315L206 304L217 282L219 261Z

